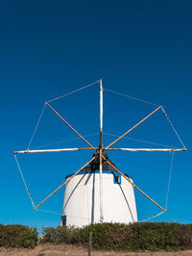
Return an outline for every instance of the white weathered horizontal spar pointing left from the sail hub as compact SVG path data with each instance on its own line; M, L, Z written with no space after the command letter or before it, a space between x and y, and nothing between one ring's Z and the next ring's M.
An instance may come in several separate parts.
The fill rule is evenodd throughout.
M26 153L54 153L54 152L67 152L67 151L78 151L78 150L96 150L96 148L84 147L84 148L60 148L60 149L40 149L40 150L21 150L14 151L13 154L26 154Z

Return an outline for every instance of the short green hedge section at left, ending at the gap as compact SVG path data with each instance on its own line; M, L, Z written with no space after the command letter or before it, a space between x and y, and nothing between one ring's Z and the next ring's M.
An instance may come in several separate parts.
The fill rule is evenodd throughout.
M34 248L38 243L36 228L0 224L0 247Z

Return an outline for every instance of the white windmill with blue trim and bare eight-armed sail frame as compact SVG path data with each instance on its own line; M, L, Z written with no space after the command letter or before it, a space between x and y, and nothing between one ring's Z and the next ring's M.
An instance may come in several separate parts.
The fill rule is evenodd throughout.
M112 141L108 146L103 145L103 85L102 80L92 83L84 88L99 83L100 85L100 138L98 146L93 146L89 141L86 141L84 137L64 119L50 104L54 100L58 100L63 96L75 93L78 90L74 90L58 98L45 102L44 108L48 107L55 115L57 115L81 140L83 140L87 147L84 148L60 148L60 149L43 149L43 150L31 150L30 145L35 136L36 129L40 118L39 116L36 124L36 129L30 141L27 150L14 151L14 157L21 173L24 185L28 192L28 195L32 201L34 210L37 210L45 201L47 201L53 194L58 192L63 186L65 186L61 225L76 225L83 226L89 223L95 222L123 222L130 223L137 221L136 204L134 198L134 189L149 199L161 212L151 218L166 213L167 208L160 206L151 196L146 192L143 192L138 188L128 174L123 173L117 166L115 166L108 158L108 151L130 151L130 152L176 152L186 151L186 148L180 136L170 121L168 115L164 111L162 106L157 106L149 115L145 116L142 120L136 123L131 129L126 131L123 135L118 137L115 141ZM83 89L84 89L83 88ZM83 90L80 89L80 90ZM116 148L111 147L117 141L120 141L129 133L132 132L145 120L155 115L156 112L162 111L167 118L169 124L176 133L178 139L182 144L182 148ZM72 175L66 177L65 181L60 187L48 195L43 201L36 206L32 199L32 196L28 190L27 184L23 177L21 168L18 164L16 154L30 154L30 153L52 153L52 152L67 152L67 151L93 151L93 157L80 169L78 169ZM173 163L172 163L173 164ZM169 188L168 188L169 189ZM149 219L149 218L146 218Z

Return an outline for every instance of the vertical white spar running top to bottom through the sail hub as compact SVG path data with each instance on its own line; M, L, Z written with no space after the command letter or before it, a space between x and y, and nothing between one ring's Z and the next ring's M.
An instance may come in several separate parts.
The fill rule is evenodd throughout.
M104 220L103 214L103 141L102 141L102 133L103 133L103 87L102 87L102 79L100 79L100 142L99 142L99 169L100 169L100 221Z

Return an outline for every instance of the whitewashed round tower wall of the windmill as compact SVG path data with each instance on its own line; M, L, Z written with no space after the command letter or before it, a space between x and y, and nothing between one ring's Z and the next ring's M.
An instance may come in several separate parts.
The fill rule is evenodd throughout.
M66 225L84 226L100 221L99 173L76 175L67 183L62 216ZM130 223L137 221L132 185L121 177L121 185L114 183L111 172L103 173L104 221Z

